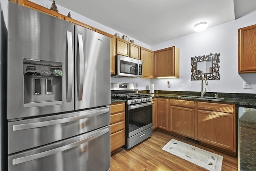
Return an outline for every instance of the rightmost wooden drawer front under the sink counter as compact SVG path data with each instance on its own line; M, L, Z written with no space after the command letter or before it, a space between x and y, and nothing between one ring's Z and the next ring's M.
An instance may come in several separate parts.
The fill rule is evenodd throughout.
M197 102L198 109L221 111L226 113L234 112L234 104L222 104L222 103L208 103L208 102Z

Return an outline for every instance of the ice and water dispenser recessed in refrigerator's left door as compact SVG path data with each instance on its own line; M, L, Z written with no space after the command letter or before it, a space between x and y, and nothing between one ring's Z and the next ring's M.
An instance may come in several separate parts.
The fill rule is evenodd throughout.
M23 107L62 103L62 63L23 59Z

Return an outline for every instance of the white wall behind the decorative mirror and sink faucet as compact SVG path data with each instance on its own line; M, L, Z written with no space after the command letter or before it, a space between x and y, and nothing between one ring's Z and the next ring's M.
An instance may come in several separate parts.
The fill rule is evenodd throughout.
M180 48L180 78L151 80L155 89L200 91L201 81L191 81L191 60L195 56L220 53L220 80L208 80L208 92L256 93L256 74L238 74L238 28L256 24L256 11L203 32L195 32L151 47L159 50ZM171 87L167 87L167 81ZM243 89L243 82L253 82L253 89Z

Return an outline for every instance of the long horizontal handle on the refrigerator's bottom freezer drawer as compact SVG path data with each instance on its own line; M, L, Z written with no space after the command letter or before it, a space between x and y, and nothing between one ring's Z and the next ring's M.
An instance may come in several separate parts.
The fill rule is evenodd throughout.
M51 150L44 151L44 152L41 152L41 153L36 153L36 154L33 154L33 155L28 155L28 156L25 156L25 157L20 157L20 158L17 158L17 159L13 159L12 160L12 165L17 165L17 164L24 163L24 162L27 162L27 161L31 161L31 160L35 160L35 159L40 159L40 158L46 157L48 155L53 155L55 153L71 149L73 147L76 147L78 145L81 145L83 143L91 141L93 139L96 139L96 138L104 135L107 132L109 132L109 127L104 129L103 131L101 131L99 133L96 133L96 134L90 136L90 137L87 137L85 139L76 141L76 142L68 144L68 145L64 145L62 147L58 147L56 149L51 149Z

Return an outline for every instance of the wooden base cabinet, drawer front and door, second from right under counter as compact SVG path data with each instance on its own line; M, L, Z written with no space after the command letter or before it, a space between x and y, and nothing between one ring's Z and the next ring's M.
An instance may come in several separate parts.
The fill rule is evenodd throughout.
M194 139L194 101L170 99L169 131Z

